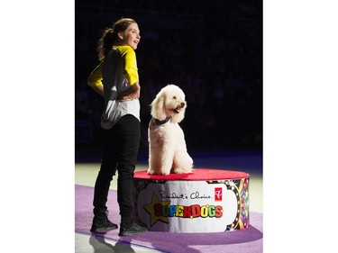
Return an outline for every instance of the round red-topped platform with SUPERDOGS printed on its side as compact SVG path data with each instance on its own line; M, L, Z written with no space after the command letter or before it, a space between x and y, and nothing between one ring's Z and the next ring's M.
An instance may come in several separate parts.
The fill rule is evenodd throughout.
M148 230L220 232L249 226L248 173L196 168L190 174L134 174L136 217Z

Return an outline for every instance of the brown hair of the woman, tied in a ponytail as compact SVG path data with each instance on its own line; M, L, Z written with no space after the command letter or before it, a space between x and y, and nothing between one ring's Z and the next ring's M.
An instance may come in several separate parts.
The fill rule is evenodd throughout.
M105 27L101 38L97 42L98 59L103 60L112 50L115 41L117 41L117 33L124 32L131 23L136 23L131 18L121 18L116 21L112 27Z

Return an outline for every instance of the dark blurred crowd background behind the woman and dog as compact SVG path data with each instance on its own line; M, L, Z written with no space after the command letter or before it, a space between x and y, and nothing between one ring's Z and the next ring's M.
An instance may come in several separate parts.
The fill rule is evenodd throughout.
M148 152L151 101L175 84L187 98L180 123L189 152L262 149L262 1L75 1L75 144L101 149L103 99L87 86L97 40L120 17L136 20L142 140Z

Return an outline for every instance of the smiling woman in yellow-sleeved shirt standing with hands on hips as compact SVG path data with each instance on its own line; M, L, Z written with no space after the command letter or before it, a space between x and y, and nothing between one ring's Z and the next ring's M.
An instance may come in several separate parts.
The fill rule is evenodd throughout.
M120 236L146 232L132 217L132 177L140 145L140 85L135 51L141 40L138 24L130 18L105 28L98 41L99 65L87 83L105 99L101 116L103 158L94 190L91 232L117 229L108 220L109 185L118 172L117 197L121 214Z

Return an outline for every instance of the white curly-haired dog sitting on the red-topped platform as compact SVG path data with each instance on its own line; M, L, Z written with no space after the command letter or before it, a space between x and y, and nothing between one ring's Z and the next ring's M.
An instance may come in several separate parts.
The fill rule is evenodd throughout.
M186 108L186 95L175 85L164 86L152 101L148 174L192 172L193 159L187 153L184 132L178 125Z

